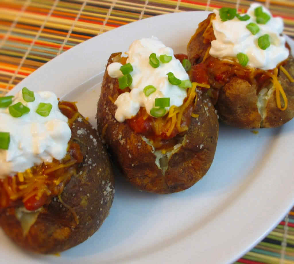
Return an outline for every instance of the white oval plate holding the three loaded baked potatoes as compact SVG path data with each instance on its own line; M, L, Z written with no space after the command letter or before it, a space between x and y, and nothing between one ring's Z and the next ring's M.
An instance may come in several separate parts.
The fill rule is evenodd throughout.
M78 101L95 124L105 64L135 39L157 36L175 53L208 12L167 14L134 22L83 42L40 67L24 86ZM289 40L292 45L293 41ZM60 257L15 246L0 230L3 263L231 263L256 245L293 206L294 121L258 134L220 126L211 169L190 189L140 192L116 179L110 215L87 241Z

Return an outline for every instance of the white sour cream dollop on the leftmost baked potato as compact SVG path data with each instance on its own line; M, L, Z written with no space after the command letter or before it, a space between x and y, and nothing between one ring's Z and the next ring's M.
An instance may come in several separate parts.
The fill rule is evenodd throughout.
M71 129L68 118L58 108L58 99L51 92L34 92L35 101L27 103L20 91L11 105L21 102L30 112L15 118L8 108L0 108L0 131L10 133L8 150L0 149L0 179L23 172L42 162L63 159ZM36 113L39 103L51 103L49 116Z

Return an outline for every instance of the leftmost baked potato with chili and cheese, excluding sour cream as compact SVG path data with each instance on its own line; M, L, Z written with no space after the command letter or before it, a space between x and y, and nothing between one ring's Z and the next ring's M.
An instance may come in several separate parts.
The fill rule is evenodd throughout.
M114 195L111 164L97 131L74 103L59 102L59 109L71 128L66 156L0 181L0 226L21 248L43 254L59 253L93 235ZM26 185L44 177L45 192L24 198Z

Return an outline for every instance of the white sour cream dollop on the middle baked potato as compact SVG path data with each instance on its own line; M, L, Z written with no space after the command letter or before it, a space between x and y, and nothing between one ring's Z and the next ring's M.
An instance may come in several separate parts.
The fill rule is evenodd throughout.
M133 71L130 72L133 82L130 85L131 92L125 92L118 96L114 102L117 105L115 118L118 122L123 122L132 116L136 116L140 107L145 107L150 115L150 110L155 105L155 98L169 97L170 106L180 106L187 96L186 89L181 89L177 85L172 85L168 81L168 72L172 72L180 80L188 80L189 76L183 65L173 55L173 49L166 47L156 37L143 38L134 41L128 50L127 63L131 63ZM172 56L168 63L160 62L159 67L153 68L149 64L149 56L155 53L159 59L160 55ZM119 74L120 63L114 62L108 65L108 74L116 78ZM149 96L143 93L147 85L153 85L156 91ZM169 107L166 107L169 110Z

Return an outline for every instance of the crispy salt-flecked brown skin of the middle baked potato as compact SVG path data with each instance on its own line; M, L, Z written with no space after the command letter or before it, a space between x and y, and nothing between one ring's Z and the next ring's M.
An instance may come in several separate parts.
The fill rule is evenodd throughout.
M119 53L112 54L108 64L117 55ZM218 118L209 98L201 98L198 94L193 112L199 117L192 118L185 136L179 136L183 144L168 160L164 174L155 163L152 147L125 122L119 123L114 118L117 107L109 96L116 100L117 88L117 79L111 78L106 70L98 101L97 124L126 179L138 189L154 193L179 192L201 179L211 166L218 139Z

